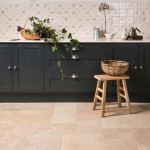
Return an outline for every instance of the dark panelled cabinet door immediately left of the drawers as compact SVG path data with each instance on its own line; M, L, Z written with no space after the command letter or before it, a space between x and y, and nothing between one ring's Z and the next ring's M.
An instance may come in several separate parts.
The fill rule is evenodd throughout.
M43 44L13 45L13 91L43 92Z

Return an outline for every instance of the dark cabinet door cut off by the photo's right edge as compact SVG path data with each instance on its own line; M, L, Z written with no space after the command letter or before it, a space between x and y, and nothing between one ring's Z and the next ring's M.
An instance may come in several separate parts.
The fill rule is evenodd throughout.
M144 101L150 102L150 44L140 44L139 48L140 93Z

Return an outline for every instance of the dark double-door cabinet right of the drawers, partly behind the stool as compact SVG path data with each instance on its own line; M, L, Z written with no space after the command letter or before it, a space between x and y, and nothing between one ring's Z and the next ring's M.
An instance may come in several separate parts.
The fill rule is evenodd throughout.
M129 62L127 75L128 91L131 101L150 102L150 44L117 43L107 45L107 58ZM111 82L109 92L114 92L116 85Z

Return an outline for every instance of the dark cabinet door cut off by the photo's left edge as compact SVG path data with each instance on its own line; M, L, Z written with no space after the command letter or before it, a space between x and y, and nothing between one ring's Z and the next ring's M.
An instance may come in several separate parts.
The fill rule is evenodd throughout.
M12 44L0 44L0 92L12 92Z

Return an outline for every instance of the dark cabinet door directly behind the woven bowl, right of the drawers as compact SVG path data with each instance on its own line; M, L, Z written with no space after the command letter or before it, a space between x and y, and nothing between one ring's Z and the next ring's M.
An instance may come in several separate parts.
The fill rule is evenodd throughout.
M107 45L107 58L113 60L123 60L129 62L129 70L126 75L130 76L127 80L128 91L138 92L138 44L136 43L116 43ZM116 85L113 82L109 88L110 91L116 91Z

